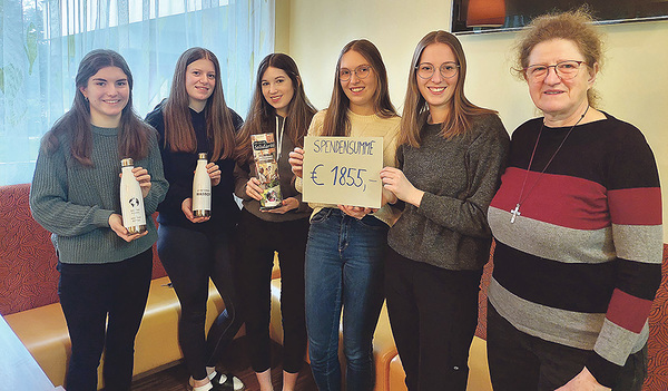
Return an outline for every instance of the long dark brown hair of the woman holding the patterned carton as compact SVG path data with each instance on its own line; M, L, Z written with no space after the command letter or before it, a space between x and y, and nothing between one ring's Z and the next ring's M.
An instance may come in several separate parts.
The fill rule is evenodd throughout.
M306 97L306 92L304 92L304 85L302 84L299 69L295 61L284 53L266 56L257 68L250 109L237 137L237 159L240 162L248 162L250 156L253 156L250 135L276 130L276 121L274 119L276 109L267 102L262 94L262 78L269 67L285 71L293 84L294 95L287 106L285 135L289 137L295 146L304 145L304 136L308 130L311 119L316 113L315 107L313 107Z

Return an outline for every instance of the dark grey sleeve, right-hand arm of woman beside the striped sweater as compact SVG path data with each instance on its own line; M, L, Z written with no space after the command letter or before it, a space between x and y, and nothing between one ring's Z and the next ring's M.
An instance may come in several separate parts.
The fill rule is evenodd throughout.
M489 237L487 211L499 187L510 138L497 116L480 121L483 129L465 153L469 188L461 197L424 193L418 213L466 236Z

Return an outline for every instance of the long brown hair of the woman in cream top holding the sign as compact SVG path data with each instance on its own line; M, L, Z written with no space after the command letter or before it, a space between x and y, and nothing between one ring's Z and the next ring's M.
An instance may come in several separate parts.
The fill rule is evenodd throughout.
M373 96L374 111L381 118L391 118L396 116L396 110L390 100L390 89L387 88L387 70L381 52L371 41L366 39L357 39L348 42L343 47L336 61L336 72L334 74L334 89L332 90L332 99L325 114L322 136L348 136L351 131L351 123L347 118L347 109L350 99L341 87L338 71L341 69L341 58L348 51L356 51L373 69L373 76L376 78L376 90Z

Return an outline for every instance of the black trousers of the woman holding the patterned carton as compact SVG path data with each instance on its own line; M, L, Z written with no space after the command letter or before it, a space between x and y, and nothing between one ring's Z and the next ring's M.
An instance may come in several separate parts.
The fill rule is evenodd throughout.
M266 222L242 211L238 229L239 293L244 302L246 341L255 372L271 368L271 280L274 252L281 264L283 369L297 373L306 353L304 257L308 218Z

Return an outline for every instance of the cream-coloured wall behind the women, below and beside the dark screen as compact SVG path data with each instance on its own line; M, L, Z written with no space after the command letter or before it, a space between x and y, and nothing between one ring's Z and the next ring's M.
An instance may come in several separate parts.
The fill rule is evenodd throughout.
M276 32L282 42L277 49L297 61L306 94L317 108L328 104L341 48L353 39L366 38L383 55L392 101L401 113L415 45L429 31L449 30L451 2L277 0L277 7L283 7L284 18L289 18ZM659 165L664 221L668 223L668 133L665 130L668 126L668 21L601 28L607 33L608 50L596 85L602 96L600 106L636 125L647 137ZM538 115L525 85L509 70L514 38L514 32L460 37L469 62L466 96L480 106L499 110L509 133ZM664 242L668 242L668 228L664 229Z

